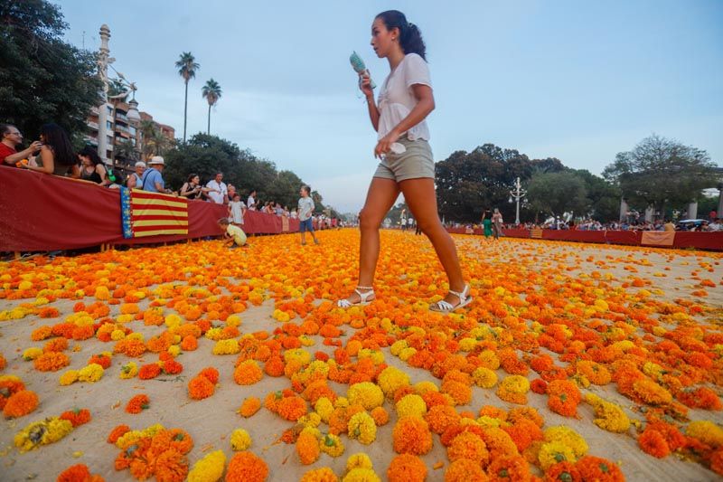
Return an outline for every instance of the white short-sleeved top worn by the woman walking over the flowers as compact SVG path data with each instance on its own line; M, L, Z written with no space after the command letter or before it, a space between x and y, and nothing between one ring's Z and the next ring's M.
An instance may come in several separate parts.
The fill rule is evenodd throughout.
M412 86L416 84L432 87L429 78L429 68L417 53L408 53L399 62L397 68L390 72L379 92L377 105L379 106L379 137L390 133L399 122L409 115L417 105ZM429 140L427 121L422 120L407 131L409 140Z

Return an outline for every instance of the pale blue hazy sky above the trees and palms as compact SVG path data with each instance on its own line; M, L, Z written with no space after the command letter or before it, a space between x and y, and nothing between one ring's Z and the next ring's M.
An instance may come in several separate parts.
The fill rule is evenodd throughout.
M599 174L655 132L723 165L723 2L718 0L283 1L56 0L66 38L96 50L108 24L114 66L140 109L183 136L183 80L192 52L189 135L206 130L201 89L223 95L211 133L290 169L340 211L358 211L375 170L376 133L349 65L375 14L397 8L427 42L437 109L437 161L493 143L559 157Z

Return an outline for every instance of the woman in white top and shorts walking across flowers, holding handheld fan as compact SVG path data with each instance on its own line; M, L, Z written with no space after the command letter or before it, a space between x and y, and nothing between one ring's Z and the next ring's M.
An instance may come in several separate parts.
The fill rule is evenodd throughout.
M426 46L417 25L409 23L397 10L382 12L374 18L371 46L378 57L390 64L378 103L374 101L369 71L359 74L371 126L378 132L374 156L380 157L381 162L359 217L359 281L352 294L338 300L337 306L361 305L375 298L372 284L379 259L379 229L401 192L418 227L432 241L449 279L446 297L432 303L429 309L449 313L468 305L472 297L462 275L455 241L437 214L435 161L427 143L429 128L425 121L435 109Z

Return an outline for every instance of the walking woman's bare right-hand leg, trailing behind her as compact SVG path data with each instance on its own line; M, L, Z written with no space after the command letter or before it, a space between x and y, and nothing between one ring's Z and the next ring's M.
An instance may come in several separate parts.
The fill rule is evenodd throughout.
M462 291L465 288L465 279L462 268L459 266L455 241L446 232L437 213L437 194L435 193L435 180L429 177L408 179L399 183L404 200L417 220L419 229L427 235L429 241L437 251L437 257L445 269L449 279L449 288L453 291ZM459 299L447 294L445 300L455 306Z

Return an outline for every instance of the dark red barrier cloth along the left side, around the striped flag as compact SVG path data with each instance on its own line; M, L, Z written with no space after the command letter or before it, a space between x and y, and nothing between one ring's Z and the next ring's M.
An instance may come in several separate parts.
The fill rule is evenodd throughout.
M145 244L221 235L218 220L228 207L188 203L188 234L126 240L122 235L120 192L56 175L0 165L0 251L73 250L100 244ZM275 215L248 211L248 234L281 232ZM298 220L289 220L298 231Z

